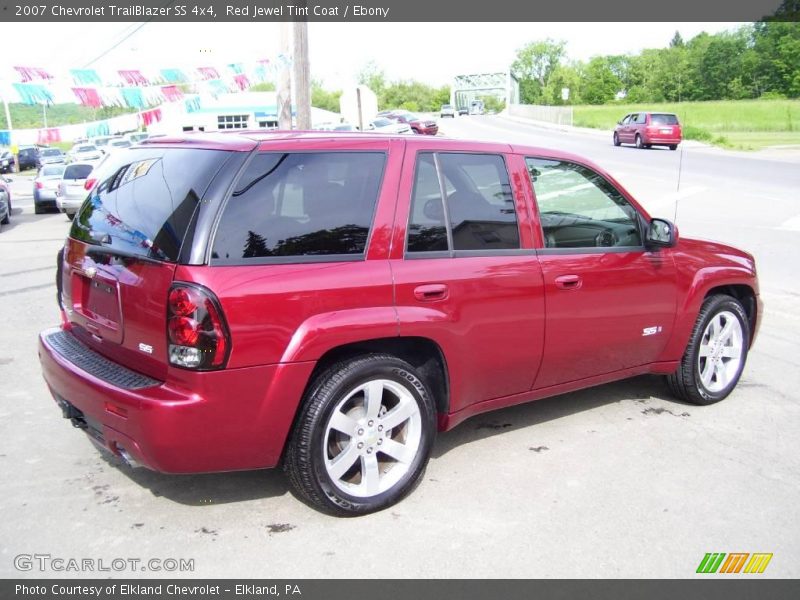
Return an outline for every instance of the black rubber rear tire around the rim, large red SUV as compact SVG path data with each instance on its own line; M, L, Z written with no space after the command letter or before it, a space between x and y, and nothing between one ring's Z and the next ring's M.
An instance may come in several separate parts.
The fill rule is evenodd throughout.
M419 408L421 435L408 470L392 487L374 496L354 496L340 489L328 474L324 459L328 452L326 428L341 400L374 379L400 384L411 394ZM394 356L369 354L336 363L315 379L287 444L283 468L297 493L315 508L339 516L364 515L395 504L416 487L425 472L435 437L436 408L420 375ZM376 457L378 453L375 452ZM363 464L356 460L357 464Z

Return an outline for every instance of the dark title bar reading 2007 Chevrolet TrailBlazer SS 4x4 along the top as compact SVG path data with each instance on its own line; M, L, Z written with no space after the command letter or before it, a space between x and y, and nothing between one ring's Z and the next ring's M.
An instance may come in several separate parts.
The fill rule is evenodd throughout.
M800 0L0 0L0 7L0 21L6 22L747 22L800 18Z

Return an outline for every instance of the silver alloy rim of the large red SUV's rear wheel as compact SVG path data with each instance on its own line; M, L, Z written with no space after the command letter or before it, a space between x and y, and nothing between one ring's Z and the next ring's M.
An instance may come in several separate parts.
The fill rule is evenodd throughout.
M422 416L403 385L373 379L339 401L325 427L325 470L333 484L366 498L391 489L411 468Z

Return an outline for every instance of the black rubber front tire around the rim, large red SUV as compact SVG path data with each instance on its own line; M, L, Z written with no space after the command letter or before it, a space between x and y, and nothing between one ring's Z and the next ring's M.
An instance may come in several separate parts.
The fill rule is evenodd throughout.
M700 344L709 322L719 313L726 311L732 313L742 328L741 359L735 375L728 385L718 391L711 391L703 384L700 378L699 353ZM739 382L742 370L747 361L747 351L750 346L750 321L747 318L742 303L736 298L725 294L717 294L706 298L700 313L697 315L689 344L681 359L678 369L667 375L667 384L672 393L686 402L692 404L708 405L723 400L730 394Z

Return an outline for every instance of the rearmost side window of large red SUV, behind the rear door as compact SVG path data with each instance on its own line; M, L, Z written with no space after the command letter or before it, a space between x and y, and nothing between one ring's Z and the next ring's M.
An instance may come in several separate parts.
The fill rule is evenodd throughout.
M258 155L225 206L213 258L363 254L384 161L377 152Z

